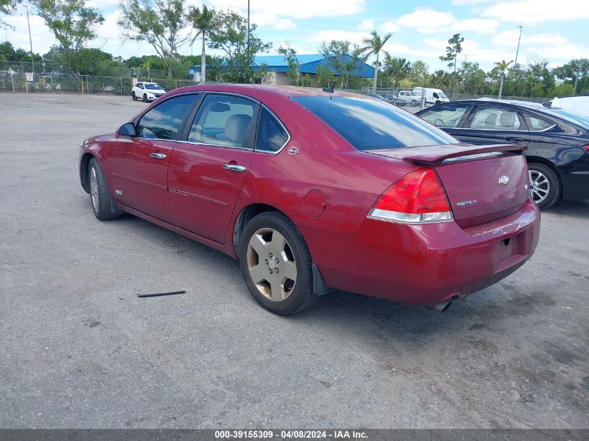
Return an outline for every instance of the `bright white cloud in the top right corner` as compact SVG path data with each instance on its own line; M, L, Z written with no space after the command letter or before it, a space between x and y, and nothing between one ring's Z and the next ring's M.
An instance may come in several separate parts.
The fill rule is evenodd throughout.
M516 0L500 1L482 12L504 22L537 24L589 18L586 1L579 0Z

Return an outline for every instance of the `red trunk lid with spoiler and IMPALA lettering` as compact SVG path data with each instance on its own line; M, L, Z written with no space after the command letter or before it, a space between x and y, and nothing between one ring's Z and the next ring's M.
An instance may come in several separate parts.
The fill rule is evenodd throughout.
M525 146L450 144L373 150L370 153L432 167L461 227L510 215L528 199Z

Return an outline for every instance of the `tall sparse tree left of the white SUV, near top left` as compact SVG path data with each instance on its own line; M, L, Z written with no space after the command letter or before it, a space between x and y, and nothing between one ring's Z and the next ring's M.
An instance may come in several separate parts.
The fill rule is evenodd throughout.
M105 21L98 9L86 7L85 0L30 0L38 15L55 35L63 49L66 64L72 68L73 54L96 38L95 28Z

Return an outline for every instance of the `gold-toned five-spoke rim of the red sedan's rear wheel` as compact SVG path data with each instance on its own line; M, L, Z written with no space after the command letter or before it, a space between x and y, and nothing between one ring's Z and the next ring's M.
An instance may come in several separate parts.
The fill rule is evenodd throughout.
M289 298L296 285L296 261L284 235L271 228L256 231L247 244L247 269L258 291L272 302Z

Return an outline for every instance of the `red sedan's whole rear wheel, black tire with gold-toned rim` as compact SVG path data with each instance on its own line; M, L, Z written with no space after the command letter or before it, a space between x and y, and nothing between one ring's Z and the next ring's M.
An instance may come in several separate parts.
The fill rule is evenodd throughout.
M247 223L239 244L247 288L262 307L290 316L315 304L312 260L295 224L280 212L263 212Z

